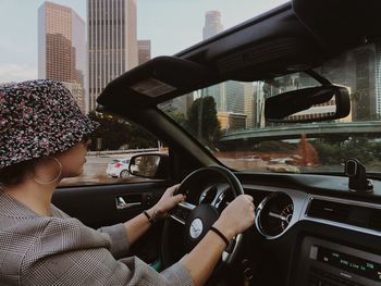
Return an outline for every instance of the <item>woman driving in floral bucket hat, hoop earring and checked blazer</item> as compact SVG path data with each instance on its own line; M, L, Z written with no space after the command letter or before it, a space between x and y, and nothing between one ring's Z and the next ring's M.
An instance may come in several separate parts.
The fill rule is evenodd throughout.
M173 196L176 186L145 213L98 231L51 204L60 181L83 173L96 127L60 83L0 87L0 284L202 285L225 241L253 225L253 198L234 199L213 224L217 231L158 273L126 257L152 220L184 200Z

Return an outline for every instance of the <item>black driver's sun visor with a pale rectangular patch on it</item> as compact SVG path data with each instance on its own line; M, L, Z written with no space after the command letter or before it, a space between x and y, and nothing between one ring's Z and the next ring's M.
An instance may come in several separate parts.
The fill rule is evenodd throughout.
M208 86L211 79L212 73L201 64L158 57L109 83L97 101L105 107L158 103Z

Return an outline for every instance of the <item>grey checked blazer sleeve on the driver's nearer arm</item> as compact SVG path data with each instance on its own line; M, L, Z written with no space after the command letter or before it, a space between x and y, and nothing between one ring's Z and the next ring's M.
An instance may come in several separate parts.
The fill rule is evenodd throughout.
M181 262L157 273L136 257L115 260L109 241L76 220L53 220L30 247L21 268L22 285L193 285Z

